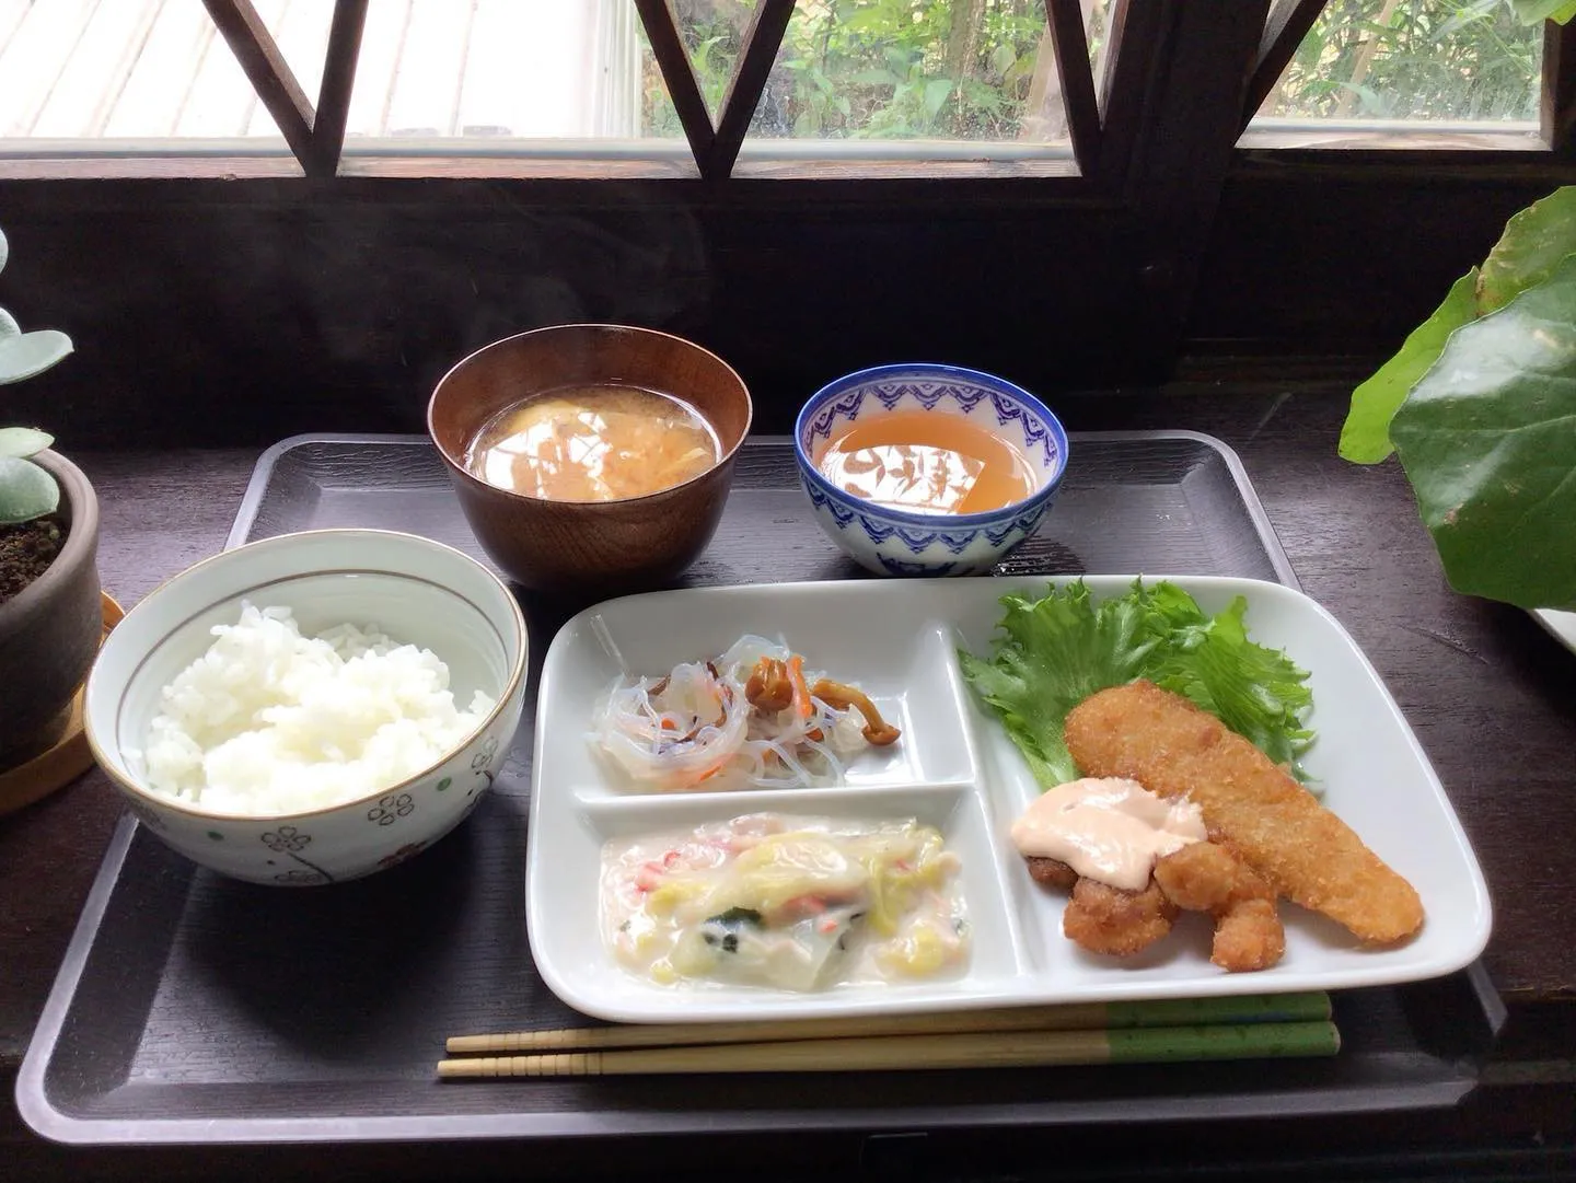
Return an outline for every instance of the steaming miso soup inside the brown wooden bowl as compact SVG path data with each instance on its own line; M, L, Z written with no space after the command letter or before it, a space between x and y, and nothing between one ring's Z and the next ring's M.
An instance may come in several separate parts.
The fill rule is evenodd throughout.
M465 449L489 485L548 501L621 501L681 485L722 457L693 406L638 386L577 386L493 414Z

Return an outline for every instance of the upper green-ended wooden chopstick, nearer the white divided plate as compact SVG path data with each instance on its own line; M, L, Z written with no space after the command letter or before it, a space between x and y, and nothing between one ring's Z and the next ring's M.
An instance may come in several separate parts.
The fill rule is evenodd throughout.
M1150 1002L1075 1003L1061 1007L1002 1007L993 1010L870 1014L848 1019L790 1019L785 1022L673 1022L569 1027L559 1030L455 1035L451 1055L615 1048L678 1048L690 1044L779 1043L895 1035L950 1035L1024 1030L1127 1030L1138 1027L1193 1027L1247 1022L1316 1022L1330 1018L1330 996L1245 994L1226 999L1158 999Z

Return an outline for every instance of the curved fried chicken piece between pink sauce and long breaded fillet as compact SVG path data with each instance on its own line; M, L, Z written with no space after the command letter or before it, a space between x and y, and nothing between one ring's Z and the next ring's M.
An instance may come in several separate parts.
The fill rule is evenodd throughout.
M1286 953L1275 888L1218 843L1191 843L1155 860L1155 885L1187 912L1215 918L1209 959L1232 973L1269 969Z

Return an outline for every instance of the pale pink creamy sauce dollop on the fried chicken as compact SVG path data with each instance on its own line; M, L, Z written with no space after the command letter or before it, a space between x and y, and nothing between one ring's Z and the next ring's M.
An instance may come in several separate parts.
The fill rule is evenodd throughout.
M1012 824L1024 859L1056 859L1124 892L1144 890L1157 859L1206 836L1198 805L1121 777L1057 784Z

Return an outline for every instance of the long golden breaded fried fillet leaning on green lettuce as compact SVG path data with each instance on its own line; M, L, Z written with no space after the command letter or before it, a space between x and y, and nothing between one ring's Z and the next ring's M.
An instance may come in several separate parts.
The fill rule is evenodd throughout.
M1130 777L1188 797L1254 871L1360 940L1393 944L1423 925L1417 890L1269 756L1152 682L1091 695L1067 715L1067 750L1091 777Z

